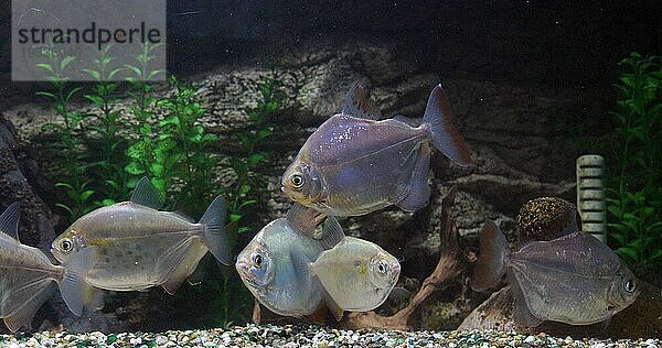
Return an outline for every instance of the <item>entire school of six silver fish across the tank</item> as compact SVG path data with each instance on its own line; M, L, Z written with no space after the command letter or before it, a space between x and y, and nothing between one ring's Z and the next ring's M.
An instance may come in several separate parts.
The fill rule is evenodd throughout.
M340 113L308 138L284 173L281 191L295 202L287 215L267 224L236 257L235 268L255 298L279 315L313 319L331 313L341 320L344 312L375 309L395 293L397 258L345 236L335 217L391 205L406 211L424 207L433 151L458 165L471 163L451 118L440 85L417 122L399 115L382 119L367 89L354 84ZM51 253L58 264L19 241L19 206L7 207L0 216L0 317L7 327L29 325L54 289L81 315L103 307L104 291L161 286L173 294L207 251L222 264L233 262L222 196L197 222L161 206L143 177L128 202L95 209L55 238ZM487 221L471 285L485 291L504 274L515 297L514 318L526 326L609 320L639 295L634 275L590 235L568 230L512 251Z

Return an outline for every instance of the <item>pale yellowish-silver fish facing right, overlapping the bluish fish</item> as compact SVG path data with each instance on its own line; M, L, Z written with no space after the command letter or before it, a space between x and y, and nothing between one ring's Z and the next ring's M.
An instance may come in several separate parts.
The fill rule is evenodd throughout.
M339 308L367 312L386 301L397 283L401 265L380 246L345 237L333 248L322 251L310 271Z

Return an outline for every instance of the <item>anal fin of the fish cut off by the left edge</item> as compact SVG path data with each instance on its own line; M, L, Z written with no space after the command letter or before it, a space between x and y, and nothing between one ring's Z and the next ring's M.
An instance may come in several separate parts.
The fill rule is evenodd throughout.
M53 295L53 281L44 279L30 286L10 291L2 301L2 311L13 308L9 315L4 316L4 324L15 333L22 326L26 326L36 314L36 311Z

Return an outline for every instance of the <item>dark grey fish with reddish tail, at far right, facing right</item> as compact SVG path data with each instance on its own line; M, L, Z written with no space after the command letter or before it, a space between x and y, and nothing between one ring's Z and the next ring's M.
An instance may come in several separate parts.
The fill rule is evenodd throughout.
M514 319L525 326L543 320L588 325L608 320L639 295L637 280L616 253L592 236L576 231L508 251L505 236L487 221L472 279L476 291L503 273L515 296Z

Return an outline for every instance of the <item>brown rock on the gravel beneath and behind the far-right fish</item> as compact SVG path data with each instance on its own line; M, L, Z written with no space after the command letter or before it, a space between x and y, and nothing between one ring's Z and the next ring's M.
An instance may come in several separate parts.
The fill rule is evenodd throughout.
M458 327L459 330L515 330L536 335L546 333L557 337L610 337L639 338L662 335L662 291L645 282L639 282L641 294L637 301L617 313L611 322L594 325L567 325L544 322L537 327L525 327L513 322L513 295L510 286L494 292L480 304Z

